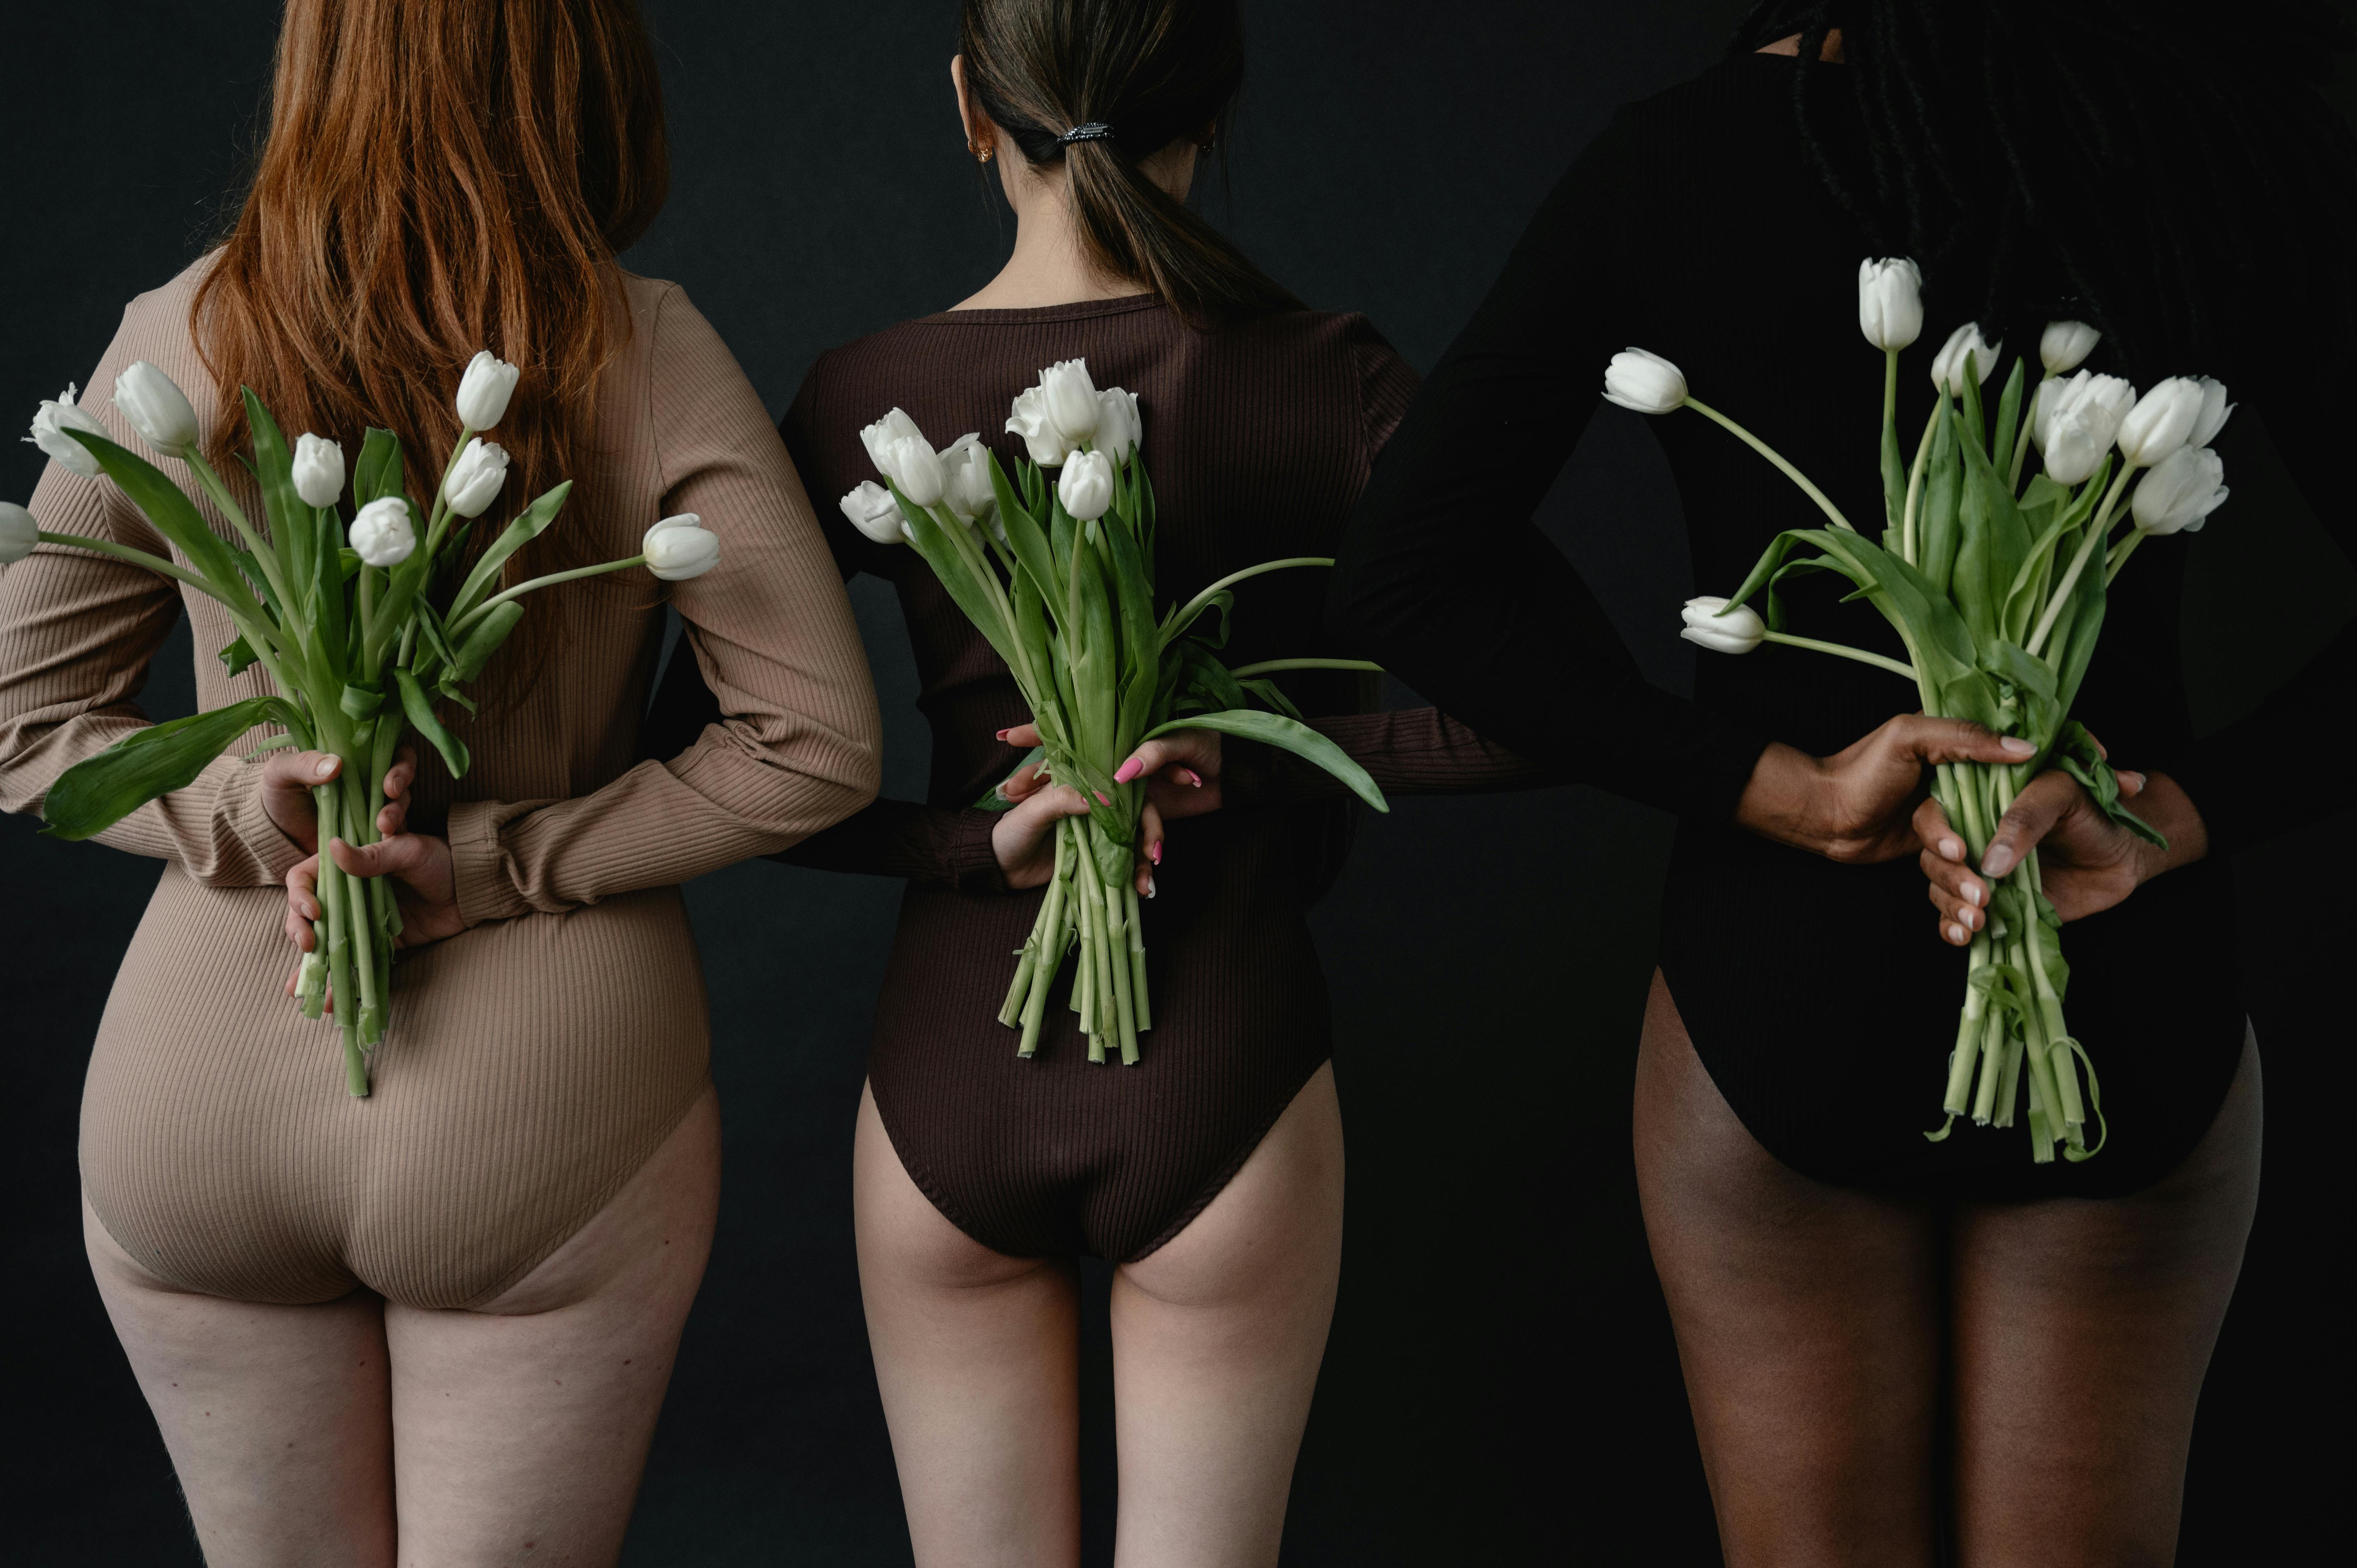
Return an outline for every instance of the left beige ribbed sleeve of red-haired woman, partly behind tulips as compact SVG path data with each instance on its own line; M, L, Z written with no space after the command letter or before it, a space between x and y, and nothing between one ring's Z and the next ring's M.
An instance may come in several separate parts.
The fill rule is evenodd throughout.
M82 408L118 443L141 450L113 410L115 377L151 358L198 403L212 429L210 382L196 363L186 321L165 297L141 295L123 314ZM82 479L52 462L33 490L33 516L52 533L80 533L179 559L108 479ZM212 521L212 507L203 507ZM214 521L214 531L226 528ZM181 566L186 561L181 559ZM132 700L177 620L177 585L94 552L40 545L0 568L0 809L38 811L57 778L108 745L146 729ZM189 589L198 658L210 655L217 606ZM259 667L231 684L231 698L269 691ZM304 858L262 809L262 766L243 762L269 731L255 731L205 766L184 790L139 806L97 842L179 863L212 887L266 887Z

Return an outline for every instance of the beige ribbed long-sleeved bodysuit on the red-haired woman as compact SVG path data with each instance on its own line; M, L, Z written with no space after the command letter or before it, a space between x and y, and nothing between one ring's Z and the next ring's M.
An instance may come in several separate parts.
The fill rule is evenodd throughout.
M85 394L132 450L108 398L139 358L214 429L222 398L189 335L203 266L132 302ZM867 665L768 413L679 288L625 278L618 295L632 335L556 526L594 535L585 559L615 559L655 519L698 512L721 566L535 594L554 651L521 693L511 653L486 670L483 717L460 731L469 776L453 783L420 747L415 813L448 809L469 929L396 964L375 1094L344 1092L332 1026L280 990L295 960L280 877L302 851L262 811L259 764L240 762L271 731L101 835L167 865L90 1061L82 1186L174 1285L250 1302L356 1285L412 1306L497 1297L608 1203L707 1082L702 971L674 884L874 795ZM325 434L358 450L361 431ZM502 495L483 526L528 500ZM167 554L106 479L49 465L31 505L45 528ZM64 769L146 722L130 696L174 592L47 545L0 571L0 806L38 809ZM203 705L262 693L259 667L229 679L214 658L233 637L219 606L184 599ZM728 717L669 762L634 762L665 599Z

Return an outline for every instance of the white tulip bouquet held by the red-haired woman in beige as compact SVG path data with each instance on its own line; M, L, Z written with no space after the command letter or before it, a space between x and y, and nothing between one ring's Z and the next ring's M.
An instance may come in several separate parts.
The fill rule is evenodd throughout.
M636 556L497 589L507 559L556 521L573 488L561 483L526 507L453 589L474 519L490 509L507 481L507 453L481 434L507 415L516 377L516 365L488 351L467 368L457 391L464 429L429 507L401 490L398 436L370 429L351 469L354 516L346 531L337 514L344 498L342 446L309 434L288 446L262 398L247 389L250 467L262 493L257 526L205 460L189 396L156 365L132 365L115 384L115 408L141 441L189 469L198 490L229 519L238 545L214 535L160 469L108 441L104 427L75 408L71 387L59 401L42 403L33 443L85 479L113 479L179 559L49 533L24 507L5 505L0 564L24 559L45 540L186 582L217 599L238 627L238 639L219 653L229 674L262 665L278 689L141 729L66 769L42 799L45 832L61 839L104 832L158 795L186 788L238 736L269 724L285 733L255 755L299 745L332 752L344 764L332 783L313 790L321 846L330 837L372 844L384 809L384 773L403 736L415 731L434 745L453 778L467 773L467 743L434 712L434 698L474 710L462 686L481 674L523 620L526 594L632 566L681 580L719 564L719 540L702 531L700 519L674 516L648 531ZM302 964L302 1009L318 1019L335 997L344 1082L354 1094L368 1094L368 1052L384 1037L401 910L382 877L351 877L328 854L318 861L318 903L325 915L313 924L318 941Z

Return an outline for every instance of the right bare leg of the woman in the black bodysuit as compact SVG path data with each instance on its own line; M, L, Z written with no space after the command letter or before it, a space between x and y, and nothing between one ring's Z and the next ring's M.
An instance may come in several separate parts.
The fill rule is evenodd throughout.
M2194 1153L2133 1198L1956 1217L1959 1561L2176 1559L2185 1455L2258 1207L2258 1047Z

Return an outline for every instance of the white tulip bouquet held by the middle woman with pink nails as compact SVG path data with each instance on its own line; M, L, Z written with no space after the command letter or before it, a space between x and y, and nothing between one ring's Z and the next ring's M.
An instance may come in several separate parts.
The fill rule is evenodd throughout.
M884 483L867 481L841 505L870 540L917 547L1023 689L1042 740L1028 762L1096 799L1087 816L1056 823L1056 875L999 1023L1023 1030L1018 1056L1035 1054L1049 990L1080 948L1070 1004L1089 1061L1117 1052L1136 1063L1138 1033L1153 1026L1134 879L1146 780L1124 776L1124 759L1174 729L1211 729L1308 757L1388 811L1367 771L1268 679L1374 665L1282 658L1228 670L1216 655L1235 604L1228 589L1266 571L1332 566L1329 556L1247 566L1155 615L1155 490L1138 460L1138 401L1120 387L1098 391L1087 361L1042 370L1006 429L1030 450L1014 479L978 434L933 450L893 408L860 431ZM1063 472L1051 481L1047 469ZM1209 611L1216 630L1197 630ZM981 804L1006 799L992 792Z

